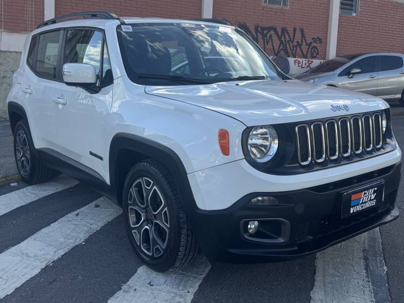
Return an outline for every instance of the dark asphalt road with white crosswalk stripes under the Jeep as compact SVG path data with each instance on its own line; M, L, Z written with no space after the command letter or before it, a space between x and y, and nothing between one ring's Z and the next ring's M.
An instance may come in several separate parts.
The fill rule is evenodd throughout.
M392 123L404 146L404 117ZM209 264L201 256L156 274L135 256L120 210L99 193L65 176L8 184L0 187L0 303L401 303L404 217L379 230L290 262Z

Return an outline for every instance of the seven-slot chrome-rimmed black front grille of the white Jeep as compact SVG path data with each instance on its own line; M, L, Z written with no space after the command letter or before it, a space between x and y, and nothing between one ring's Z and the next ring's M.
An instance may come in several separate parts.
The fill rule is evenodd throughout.
M299 124L296 129L297 158L300 165L361 156L382 146L382 124L379 113L354 115L323 122Z

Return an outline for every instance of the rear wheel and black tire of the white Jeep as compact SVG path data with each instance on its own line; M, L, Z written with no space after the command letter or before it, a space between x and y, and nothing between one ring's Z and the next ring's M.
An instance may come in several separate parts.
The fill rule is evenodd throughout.
M18 121L14 128L14 157L21 179L27 184L43 183L55 176L55 171L46 167L36 156L25 120Z

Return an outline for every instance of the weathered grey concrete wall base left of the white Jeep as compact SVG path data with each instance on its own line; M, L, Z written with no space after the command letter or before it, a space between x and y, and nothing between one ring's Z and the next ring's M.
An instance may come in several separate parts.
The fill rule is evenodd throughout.
M7 120L6 97L13 83L13 74L20 64L21 53L0 51L0 120Z

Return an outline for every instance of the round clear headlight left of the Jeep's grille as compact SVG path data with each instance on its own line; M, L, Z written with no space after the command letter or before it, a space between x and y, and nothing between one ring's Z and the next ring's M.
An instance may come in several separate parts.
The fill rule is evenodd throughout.
M272 126L256 126L248 135L248 151L259 163L271 160L278 149L278 135Z

